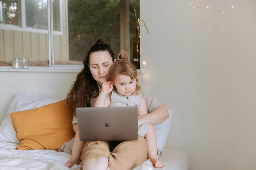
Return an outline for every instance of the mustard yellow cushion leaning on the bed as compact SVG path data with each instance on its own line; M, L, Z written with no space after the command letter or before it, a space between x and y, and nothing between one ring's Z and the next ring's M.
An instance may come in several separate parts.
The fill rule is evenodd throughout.
M10 113L20 144L17 150L56 150L75 136L65 100L39 108Z

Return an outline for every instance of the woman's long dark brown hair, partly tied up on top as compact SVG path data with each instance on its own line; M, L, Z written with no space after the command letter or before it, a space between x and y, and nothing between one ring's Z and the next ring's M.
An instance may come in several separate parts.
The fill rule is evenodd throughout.
M93 52L108 51L112 61L114 62L114 52L111 46L104 44L104 41L99 39L86 53L83 60L84 68L77 74L76 81L72 82L72 86L66 97L66 105L70 110L71 116L76 116L77 107L91 107L91 98L99 95L99 88L97 81L93 78L88 64L90 63L90 56Z

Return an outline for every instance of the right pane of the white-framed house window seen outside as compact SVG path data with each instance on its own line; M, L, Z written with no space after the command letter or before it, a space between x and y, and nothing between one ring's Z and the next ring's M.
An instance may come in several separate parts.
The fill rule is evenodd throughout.
M47 0L26 0L26 27L48 29ZM60 0L53 1L53 30L60 31Z

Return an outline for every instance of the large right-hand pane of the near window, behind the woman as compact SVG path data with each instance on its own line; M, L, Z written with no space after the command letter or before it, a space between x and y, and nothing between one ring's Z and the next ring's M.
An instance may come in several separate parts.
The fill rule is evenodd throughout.
M126 22L126 25L121 27L119 17L123 13L125 18L136 25L133 0L64 2L61 6L63 35L54 35L53 40L54 64L82 64L86 53L98 39L103 39L105 43L111 45L115 58L119 50L126 50L128 57L132 57L135 27L130 21L123 21L122 23ZM123 4L127 4L127 7ZM139 18L139 4L139 0L134 0L137 18ZM128 33L125 42L120 40L120 34L123 34L121 29Z

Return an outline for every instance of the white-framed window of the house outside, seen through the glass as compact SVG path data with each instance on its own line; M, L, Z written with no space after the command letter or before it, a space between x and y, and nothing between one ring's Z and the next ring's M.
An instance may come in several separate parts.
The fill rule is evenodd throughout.
M52 3L54 34L61 34L61 0ZM47 33L47 14L47 0L1 0L0 29Z

